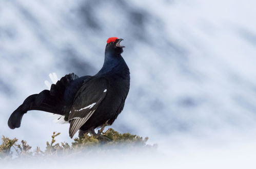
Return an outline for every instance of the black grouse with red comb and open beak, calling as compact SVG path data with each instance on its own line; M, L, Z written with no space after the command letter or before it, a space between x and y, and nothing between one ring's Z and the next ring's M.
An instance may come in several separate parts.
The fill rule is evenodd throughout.
M121 55L125 47L120 45L122 40L107 39L104 64L95 75L70 73L50 90L28 96L10 115L9 128L19 128L25 113L38 110L65 116L71 138L77 131L96 135L94 130L101 128L97 134L103 132L122 112L130 89L130 71Z

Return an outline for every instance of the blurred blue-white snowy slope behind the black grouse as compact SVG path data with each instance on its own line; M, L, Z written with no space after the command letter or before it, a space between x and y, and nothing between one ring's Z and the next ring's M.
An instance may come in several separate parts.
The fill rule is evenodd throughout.
M250 0L0 1L0 135L45 147L57 131L57 141L71 142L69 125L49 113L30 111L15 130L7 120L47 89L49 73L97 73L107 38L116 36L125 39L131 87L112 128L149 136L173 161L198 153L199 161L255 163L239 156L256 155L255 7Z

